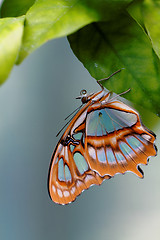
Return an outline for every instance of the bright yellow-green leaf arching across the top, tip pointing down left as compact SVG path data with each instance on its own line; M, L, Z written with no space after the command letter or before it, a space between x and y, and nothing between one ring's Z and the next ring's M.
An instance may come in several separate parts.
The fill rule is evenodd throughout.
M95 21L110 20L132 0L37 0L26 14L18 63L46 41Z

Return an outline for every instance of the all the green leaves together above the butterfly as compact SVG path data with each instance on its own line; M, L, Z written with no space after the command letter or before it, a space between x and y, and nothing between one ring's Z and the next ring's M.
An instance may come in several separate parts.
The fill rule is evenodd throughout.
M5 0L0 19L0 83L14 64L50 39L68 36L90 74L160 115L160 2L156 0ZM54 54L54 53L53 53ZM56 57L56 56L55 56Z

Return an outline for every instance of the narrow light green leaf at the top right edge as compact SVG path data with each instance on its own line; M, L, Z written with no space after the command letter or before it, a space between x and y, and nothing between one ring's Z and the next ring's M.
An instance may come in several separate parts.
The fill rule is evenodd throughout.
M153 48L160 58L160 1L144 0L142 12Z

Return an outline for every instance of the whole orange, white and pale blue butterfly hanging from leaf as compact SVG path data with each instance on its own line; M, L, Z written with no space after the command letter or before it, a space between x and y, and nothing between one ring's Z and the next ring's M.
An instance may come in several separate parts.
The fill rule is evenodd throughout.
M94 94L81 91L83 106L52 155L48 190L55 203L68 204L117 173L130 171L142 178L139 164L156 155L156 135L142 124L138 112L100 86Z

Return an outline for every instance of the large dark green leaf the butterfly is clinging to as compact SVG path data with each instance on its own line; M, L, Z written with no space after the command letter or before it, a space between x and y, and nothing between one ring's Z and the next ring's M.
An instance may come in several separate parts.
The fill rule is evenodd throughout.
M160 63L142 28L128 15L110 22L93 23L69 37L79 60L101 79L125 68L103 84L110 91L160 114Z

